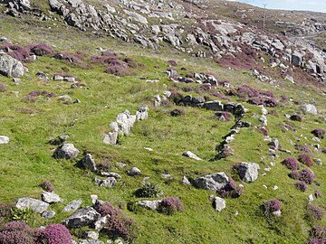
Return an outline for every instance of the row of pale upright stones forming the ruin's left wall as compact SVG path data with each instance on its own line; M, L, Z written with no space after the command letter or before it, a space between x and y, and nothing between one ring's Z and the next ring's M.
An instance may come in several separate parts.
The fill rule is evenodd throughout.
M116 121L110 123L111 132L104 135L103 143L116 145L119 136L129 135L131 127L134 126L136 121L144 120L149 117L149 107L142 105L139 107L135 115L131 115L129 110L120 113L116 117Z

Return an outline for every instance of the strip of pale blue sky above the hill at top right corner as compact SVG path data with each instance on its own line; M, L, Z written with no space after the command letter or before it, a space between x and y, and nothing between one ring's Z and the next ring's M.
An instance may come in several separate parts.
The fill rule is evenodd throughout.
M228 0L259 7L284 10L305 10L326 13L326 0Z

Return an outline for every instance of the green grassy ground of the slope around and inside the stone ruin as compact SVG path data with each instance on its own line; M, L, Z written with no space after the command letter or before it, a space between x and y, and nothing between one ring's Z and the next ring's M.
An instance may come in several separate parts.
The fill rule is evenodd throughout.
M135 243L303 243L308 239L309 230L314 224L326 224L325 220L312 222L305 218L307 196L315 190L319 190L322 195L326 192L323 182L326 177L325 165L312 166L321 186L312 184L307 192L300 192L293 186L295 181L287 176L290 171L281 164L283 158L288 156L285 153L278 153L272 171L267 172L266 176L260 176L256 182L243 183L235 178L237 183L245 185L245 193L239 199L227 199L225 211L215 211L208 201L208 196L214 192L184 185L180 183L181 177L197 177L220 171L231 175L232 165L244 161L259 163L262 174L264 167L271 162L264 136L254 127L241 129L235 135L235 141L230 144L235 155L210 162L216 155L216 145L223 140L222 136L228 133L234 121L219 122L214 112L203 108L182 108L186 111L185 116L171 117L169 111L175 106L153 108L151 105L153 95L162 94L167 89L179 89L162 73L166 70L166 61L169 59L179 62L178 70L180 67L187 67L188 70L198 72L212 71L216 73L217 79L231 80L235 87L248 84L256 89L273 90L278 99L281 95L302 101L315 99L321 113L319 117L307 114L303 115L302 122L291 122L284 114L292 114L299 109L290 102L273 108L279 117L268 116L270 136L278 138L283 149L291 150L295 156L297 152L290 140L295 142L296 138L300 138L300 144L314 144L311 130L315 127L325 128L321 117L325 117L326 99L321 90L297 87L282 80L279 82L280 86L275 88L254 80L242 70L222 69L215 63L173 54L172 51L167 50L166 55L159 54L126 43L113 43L104 37L97 38L91 34L87 36L65 26L61 26L63 31L58 38L56 29L46 28L48 23L16 20L6 16L4 18L6 22L1 24L0 33L22 45L46 42L54 44L56 51L82 50L89 54L99 53L95 50L98 46L110 47L111 50L124 52L143 64L136 70L136 75L117 78L104 73L103 67L98 65L93 64L92 69L82 70L51 57L41 57L26 64L29 73L24 75L20 85L15 85L9 78L0 77L0 82L7 86L7 90L0 94L0 135L11 138L9 144L0 146L1 202L14 202L16 198L24 196L40 198L42 189L38 184L44 180L50 180L55 192L64 199L63 203L56 203L51 207L57 211L53 220L44 221L35 217L31 221L35 227L60 222L68 217L69 213L62 212L62 208L72 200L82 199L83 206L90 205L90 194L98 194L101 200L115 206L121 205L126 214L137 222L139 235ZM73 38L70 39L70 36ZM51 77L55 72L62 71L62 68L68 68L69 73L81 79L86 84L85 89L70 89L69 82L45 82L35 76L37 71L44 71ZM145 82L140 77L159 79L159 82ZM197 86L199 85L191 85L194 88ZM24 102L24 97L30 91L43 89L53 91L56 95L69 94L72 99L80 99L82 103L63 105L55 98L39 98L34 103ZM239 101L232 97L230 99ZM116 115L125 109L135 113L141 104L149 105L149 119L137 122L131 135L124 136L120 145L104 145L102 135L110 130L109 124ZM253 126L259 126L258 120L252 115L260 114L261 108L244 104L245 108L249 108L244 119L252 122ZM291 123L297 132L283 132L279 126L283 122ZM110 170L122 175L118 184L113 188L101 188L92 183L94 174L74 166L82 154L72 162L53 159L52 150L55 146L48 141L64 134L72 136L69 142L81 151L90 152L97 163L109 160L112 163ZM149 152L144 147L154 150ZM322 140L321 147L326 147L325 139ZM186 150L204 160L194 161L182 156ZM325 155L314 151L313 155L326 163ZM118 162L128 166L120 169ZM127 170L132 166L139 167L142 175L129 177ZM173 175L174 180L162 179L162 173ZM164 196L180 197L185 210L173 216L156 211L128 211L127 203L139 200L134 192L141 186L144 176L150 177L149 182L158 183ZM268 187L267 190L263 184ZM279 189L273 191L274 185ZM283 214L278 219L266 219L262 204L273 198L282 202ZM315 200L314 204L325 210L324 196ZM239 214L235 215L235 211ZM77 230L74 232L78 233Z

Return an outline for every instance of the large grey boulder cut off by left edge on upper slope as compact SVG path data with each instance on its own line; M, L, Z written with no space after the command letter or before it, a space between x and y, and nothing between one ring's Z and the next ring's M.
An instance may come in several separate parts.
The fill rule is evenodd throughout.
M23 63L5 52L0 52L0 73L8 77L19 78L24 75Z

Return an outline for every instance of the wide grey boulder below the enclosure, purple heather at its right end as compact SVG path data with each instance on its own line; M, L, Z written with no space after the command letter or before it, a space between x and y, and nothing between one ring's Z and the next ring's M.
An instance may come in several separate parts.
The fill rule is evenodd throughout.
M224 188L228 181L229 178L224 172L218 172L194 179L193 185L197 188L216 192Z

